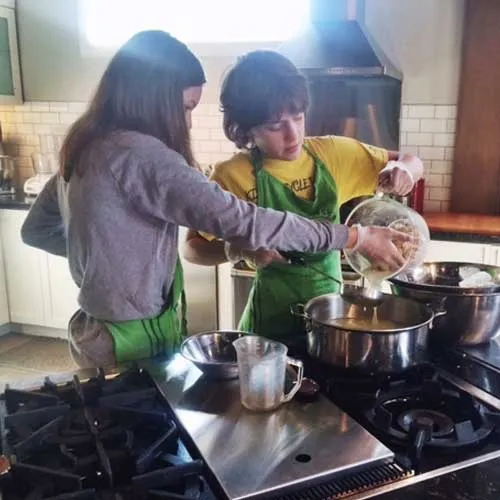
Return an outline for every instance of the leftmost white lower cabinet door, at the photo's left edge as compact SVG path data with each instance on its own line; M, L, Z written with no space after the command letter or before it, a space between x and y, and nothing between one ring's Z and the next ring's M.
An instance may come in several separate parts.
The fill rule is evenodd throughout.
M43 325L43 272L45 252L25 245L21 226L26 217L23 210L0 211L0 234L5 263L5 282L13 323Z

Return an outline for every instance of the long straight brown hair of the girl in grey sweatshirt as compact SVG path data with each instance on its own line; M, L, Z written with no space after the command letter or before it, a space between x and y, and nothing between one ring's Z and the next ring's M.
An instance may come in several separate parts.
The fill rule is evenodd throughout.
M134 35L110 61L87 111L63 142L64 179L81 173L84 150L115 130L156 137L193 164L182 91L205 81L199 60L176 38L164 31Z

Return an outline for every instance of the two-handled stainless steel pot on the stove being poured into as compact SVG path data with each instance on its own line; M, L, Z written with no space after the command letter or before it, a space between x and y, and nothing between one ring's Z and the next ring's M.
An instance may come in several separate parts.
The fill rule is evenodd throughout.
M305 319L309 356L369 372L394 373L425 362L429 329L444 313L387 294L378 307L363 307L349 297L357 288L346 286L342 294L321 295L294 308ZM352 326L343 326L346 318ZM397 327L380 328L386 321Z

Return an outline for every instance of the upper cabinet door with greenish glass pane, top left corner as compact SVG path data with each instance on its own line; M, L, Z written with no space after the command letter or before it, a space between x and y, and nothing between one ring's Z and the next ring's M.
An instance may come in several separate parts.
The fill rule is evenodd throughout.
M22 101L14 9L0 7L0 104Z

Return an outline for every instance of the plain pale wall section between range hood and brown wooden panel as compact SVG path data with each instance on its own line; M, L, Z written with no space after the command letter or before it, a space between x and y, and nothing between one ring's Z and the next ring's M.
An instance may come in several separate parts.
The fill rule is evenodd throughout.
M404 104L456 104L465 0L366 0L366 25L403 73Z

